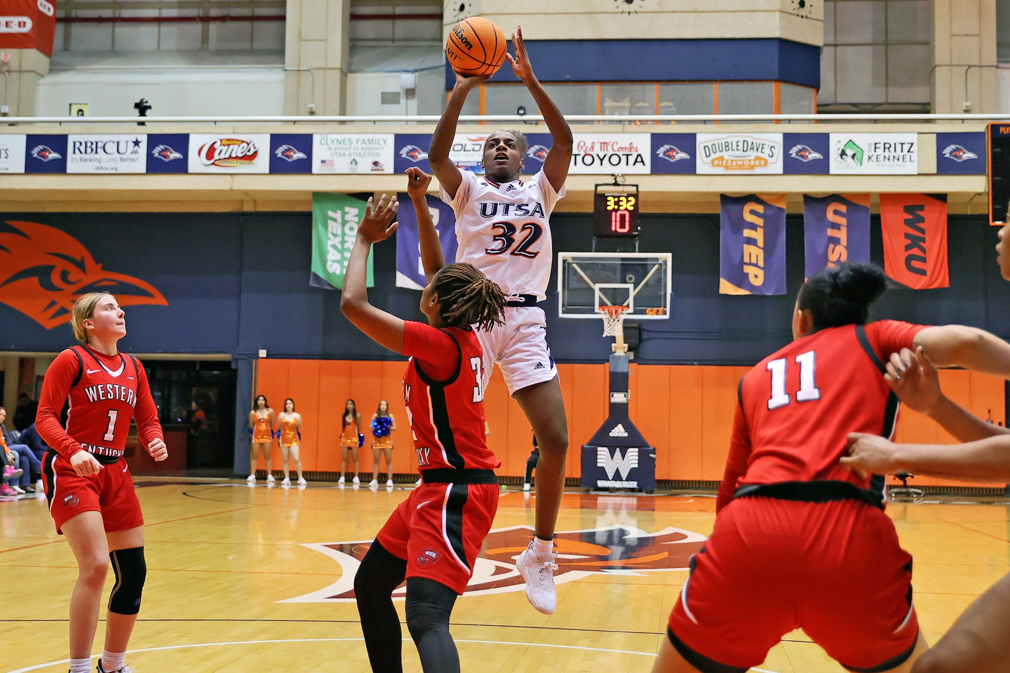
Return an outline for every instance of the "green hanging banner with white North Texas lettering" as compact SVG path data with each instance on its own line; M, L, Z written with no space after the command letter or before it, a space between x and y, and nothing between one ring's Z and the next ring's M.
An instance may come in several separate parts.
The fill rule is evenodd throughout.
M312 272L309 285L326 290L342 290L343 274L358 237L358 225L368 204L346 194L312 193ZM368 287L375 285L372 273L373 250L369 254Z

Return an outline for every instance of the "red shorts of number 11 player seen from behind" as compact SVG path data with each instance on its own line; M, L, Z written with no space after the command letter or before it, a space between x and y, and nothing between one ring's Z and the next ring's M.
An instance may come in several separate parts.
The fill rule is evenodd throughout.
M737 498L691 568L668 635L703 673L760 666L794 629L852 671L895 668L915 648L912 557L864 502Z

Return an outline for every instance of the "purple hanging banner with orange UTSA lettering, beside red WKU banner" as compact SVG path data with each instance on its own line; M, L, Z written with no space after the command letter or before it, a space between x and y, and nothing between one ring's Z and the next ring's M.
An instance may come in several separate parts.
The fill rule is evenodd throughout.
M870 261L870 195L803 197L806 277L843 261Z

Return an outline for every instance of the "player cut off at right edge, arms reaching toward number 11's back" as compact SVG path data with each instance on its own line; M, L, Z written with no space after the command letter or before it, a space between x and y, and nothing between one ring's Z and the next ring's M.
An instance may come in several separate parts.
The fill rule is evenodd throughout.
M1010 226L996 246L1003 277L1010 281ZM947 399L939 385L935 354L916 349L892 355L887 379L903 403L929 416L965 444L893 444L883 437L852 434L850 456L841 462L858 472L894 474L907 470L954 479L1010 481L1010 429L986 423ZM993 362L991 368L1010 369ZM1006 377L1006 372L1001 373ZM957 618L912 673L1005 673L1010 671L1010 575L993 584Z

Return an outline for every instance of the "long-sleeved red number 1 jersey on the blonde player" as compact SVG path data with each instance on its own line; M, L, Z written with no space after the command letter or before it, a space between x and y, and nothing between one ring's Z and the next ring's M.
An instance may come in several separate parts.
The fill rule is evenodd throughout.
M60 415L68 398L65 430ZM101 463L115 462L123 455L134 418L144 447L163 439L147 374L135 358L74 346L60 353L46 370L35 428L64 458L84 450Z

